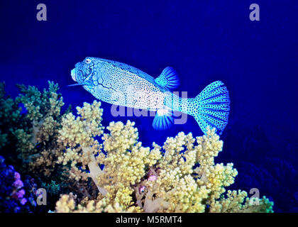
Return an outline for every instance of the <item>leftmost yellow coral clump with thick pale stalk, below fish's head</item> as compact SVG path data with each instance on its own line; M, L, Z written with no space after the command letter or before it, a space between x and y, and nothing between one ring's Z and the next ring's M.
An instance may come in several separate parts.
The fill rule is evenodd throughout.
M98 140L94 139L96 135L101 135L103 132L100 105L97 101L94 101L92 105L84 103L82 108L77 107L79 116L75 117L69 113L62 118L62 128L59 131L57 143L67 149L60 154L57 163L62 163L62 165L70 163L70 178L77 181L92 177L96 183L96 176L101 172L99 168L101 156L96 157L97 153L100 153L101 145ZM81 165L82 170L86 170L88 166L89 174L79 170L77 165ZM98 189L99 192L105 193L104 188L98 186Z

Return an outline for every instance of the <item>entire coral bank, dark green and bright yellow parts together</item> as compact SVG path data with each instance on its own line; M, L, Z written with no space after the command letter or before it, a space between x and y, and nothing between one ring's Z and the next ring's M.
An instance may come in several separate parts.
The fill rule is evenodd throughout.
M4 84L0 87L0 150L8 155L5 150L15 148L19 170L40 177L40 185L57 199L48 209L272 212L266 197L226 192L238 172L233 163L214 162L223 141L211 128L206 135L179 133L162 147L153 143L153 148L145 148L131 121L111 122L104 129L99 101L84 103L76 114L70 109L62 114L57 84L49 82L43 93L35 87L18 88L21 94L11 99L5 96Z

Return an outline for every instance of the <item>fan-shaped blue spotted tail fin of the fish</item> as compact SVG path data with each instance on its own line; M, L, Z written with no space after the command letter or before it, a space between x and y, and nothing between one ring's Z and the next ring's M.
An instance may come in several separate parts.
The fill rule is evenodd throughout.
M228 123L230 112L230 98L228 89L221 81L209 84L194 98L192 104L192 116L196 119L204 133L206 128L216 128L219 135Z

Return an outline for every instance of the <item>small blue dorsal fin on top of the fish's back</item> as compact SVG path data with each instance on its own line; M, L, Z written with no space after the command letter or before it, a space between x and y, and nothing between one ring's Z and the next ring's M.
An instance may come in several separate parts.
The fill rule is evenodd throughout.
M155 79L161 87L166 87L167 89L175 89L180 84L180 79L177 76L177 72L172 67L166 67L162 70L162 73L158 78Z

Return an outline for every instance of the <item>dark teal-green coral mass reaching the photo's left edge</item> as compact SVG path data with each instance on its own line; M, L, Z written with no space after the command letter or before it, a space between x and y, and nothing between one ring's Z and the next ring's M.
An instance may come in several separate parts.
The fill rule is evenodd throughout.
M0 140L9 135L16 142L16 150L23 170L43 172L45 176L55 169L55 157L62 152L57 146L57 131L60 128L60 109L64 105L58 86L49 82L43 92L35 87L18 85L21 94L16 99L6 97L1 84ZM21 114L24 113L24 114ZM5 145L5 144L4 144Z

